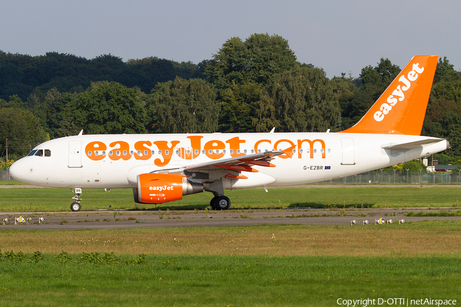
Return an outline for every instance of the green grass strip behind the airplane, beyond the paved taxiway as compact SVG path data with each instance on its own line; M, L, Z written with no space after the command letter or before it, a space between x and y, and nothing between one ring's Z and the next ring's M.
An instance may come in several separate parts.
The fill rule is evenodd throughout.
M459 207L461 199L457 187L402 187L402 188L262 188L226 191L233 209L273 209L296 207ZM3 211L68 211L73 193L58 188L0 189L0 208ZM82 209L96 210L192 210L209 208L212 194L203 192L186 195L180 201L166 204L136 204L131 189L83 189Z

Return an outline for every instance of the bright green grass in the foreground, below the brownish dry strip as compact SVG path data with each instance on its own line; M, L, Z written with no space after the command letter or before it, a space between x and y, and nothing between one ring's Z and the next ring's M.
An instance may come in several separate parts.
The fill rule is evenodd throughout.
M0 261L8 306L334 306L342 299L461 301L459 257L151 255L141 264L83 264L73 255Z

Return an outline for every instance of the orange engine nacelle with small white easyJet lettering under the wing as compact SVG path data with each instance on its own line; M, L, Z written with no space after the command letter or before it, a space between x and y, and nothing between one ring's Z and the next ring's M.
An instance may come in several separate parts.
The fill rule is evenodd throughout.
M179 174L144 173L137 176L133 198L139 204L161 204L182 199L182 195L203 192L203 185L188 182Z

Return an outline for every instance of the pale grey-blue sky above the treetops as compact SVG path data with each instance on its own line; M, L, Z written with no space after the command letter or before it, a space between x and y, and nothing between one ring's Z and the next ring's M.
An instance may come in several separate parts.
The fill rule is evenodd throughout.
M4 0L0 50L197 64L229 38L267 33L328 78L359 77L381 58L404 68L417 54L447 57L459 71L459 12L459 0Z

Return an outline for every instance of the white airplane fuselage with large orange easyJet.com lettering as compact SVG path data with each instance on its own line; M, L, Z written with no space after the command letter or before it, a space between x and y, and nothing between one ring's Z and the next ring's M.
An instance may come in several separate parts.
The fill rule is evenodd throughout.
M433 141L406 149L383 149L421 140ZM443 139L385 134L79 135L38 145L34 150L47 154L24 157L10 172L16 180L40 186L134 188L141 173L283 150L285 153L271 161L275 167L253 166L259 172L244 172L247 179L225 178L223 187L287 186L383 168L448 146Z

